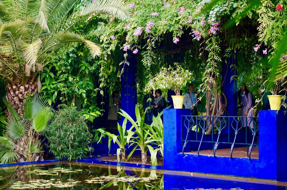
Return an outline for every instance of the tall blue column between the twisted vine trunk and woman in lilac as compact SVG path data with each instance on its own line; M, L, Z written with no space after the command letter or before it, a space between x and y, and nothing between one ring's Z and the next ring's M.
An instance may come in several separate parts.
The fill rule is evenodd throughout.
M237 116L237 81L234 80L234 76L237 75L235 66L237 65L236 54L231 52L229 58L226 58L226 62L223 62L223 84L222 90L227 98L227 107L224 112L224 116ZM232 78L233 77L233 78Z

